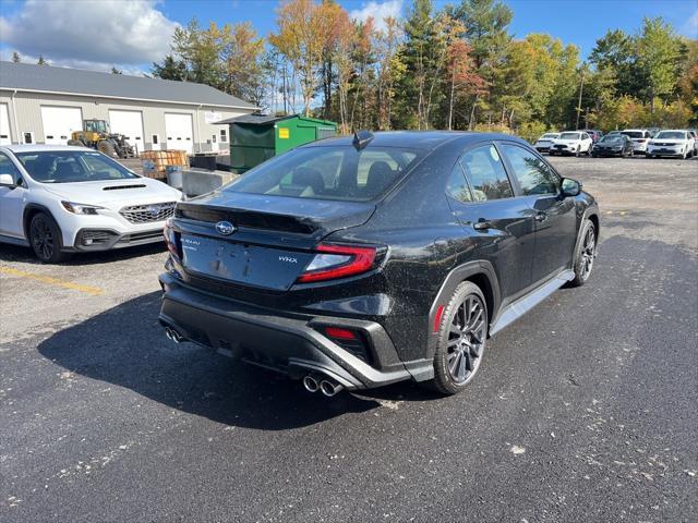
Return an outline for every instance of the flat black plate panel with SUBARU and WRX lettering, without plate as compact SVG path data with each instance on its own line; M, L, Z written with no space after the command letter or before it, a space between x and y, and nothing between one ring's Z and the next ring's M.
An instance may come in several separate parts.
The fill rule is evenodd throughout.
M277 291L289 289L312 256L193 234L182 234L181 241L186 271Z

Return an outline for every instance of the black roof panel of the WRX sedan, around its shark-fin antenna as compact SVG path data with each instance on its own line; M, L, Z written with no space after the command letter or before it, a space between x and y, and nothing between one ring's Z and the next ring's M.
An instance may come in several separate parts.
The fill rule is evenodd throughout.
M436 147L458 139L459 144L485 142L491 139L509 139L521 143L518 136L500 133L477 133L465 131L382 131L373 133L373 139L366 147L406 147L411 149L435 149ZM339 136L311 142L301 147L333 147L352 145L353 136ZM528 143L527 143L528 144Z

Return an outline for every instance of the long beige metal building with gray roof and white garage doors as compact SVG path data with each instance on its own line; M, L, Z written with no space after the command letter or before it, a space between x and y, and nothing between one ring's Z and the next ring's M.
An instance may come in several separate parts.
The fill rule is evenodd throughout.
M141 150L229 153L226 120L256 111L203 84L0 62L0 145L67 144L86 119Z

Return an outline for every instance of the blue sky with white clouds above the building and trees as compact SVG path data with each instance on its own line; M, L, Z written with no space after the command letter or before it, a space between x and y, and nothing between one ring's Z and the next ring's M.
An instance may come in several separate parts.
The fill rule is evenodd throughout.
M399 13L411 0L339 0L356 17ZM454 0L436 0L437 8ZM550 33L586 57L610 28L635 33L643 16L662 16L698 38L698 0L506 0L512 32ZM148 71L168 50L177 24L250 21L263 35L275 27L277 0L0 0L0 58L16 50L33 61L128 73Z

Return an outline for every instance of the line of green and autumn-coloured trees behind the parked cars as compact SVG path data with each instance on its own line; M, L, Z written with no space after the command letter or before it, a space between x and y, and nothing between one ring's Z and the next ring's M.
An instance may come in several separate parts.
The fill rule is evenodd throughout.
M353 129L551 129L698 124L698 40L662 19L609 31L587 61L549 34L514 38L501 0L351 20L334 0L284 0L266 38L245 23L176 29L153 75L198 82L267 111Z

